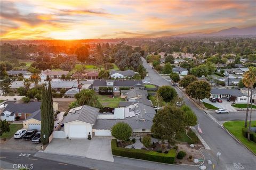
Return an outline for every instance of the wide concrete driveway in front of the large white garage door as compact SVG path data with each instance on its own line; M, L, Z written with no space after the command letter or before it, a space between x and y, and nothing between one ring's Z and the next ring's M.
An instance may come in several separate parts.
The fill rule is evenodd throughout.
M112 137L53 139L44 150L46 153L86 157L114 162L111 152Z

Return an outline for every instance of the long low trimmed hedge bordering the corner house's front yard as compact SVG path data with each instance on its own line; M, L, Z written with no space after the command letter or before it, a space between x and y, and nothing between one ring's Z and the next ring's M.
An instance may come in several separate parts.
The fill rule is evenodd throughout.
M128 149L117 147L117 140L111 140L112 154L135 159L150 160L153 162L173 164L176 156L175 149L170 149L167 154L142 149Z

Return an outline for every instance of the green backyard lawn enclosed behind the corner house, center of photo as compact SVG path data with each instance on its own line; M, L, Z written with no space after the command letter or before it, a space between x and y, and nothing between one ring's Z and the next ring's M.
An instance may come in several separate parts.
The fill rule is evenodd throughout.
M125 101L125 99L120 98L120 97L112 98L111 96L108 96L108 95L106 95L106 96L105 95L97 95L97 96L98 96L98 99L99 99L101 105L104 107L115 108L115 107L118 107L119 101Z

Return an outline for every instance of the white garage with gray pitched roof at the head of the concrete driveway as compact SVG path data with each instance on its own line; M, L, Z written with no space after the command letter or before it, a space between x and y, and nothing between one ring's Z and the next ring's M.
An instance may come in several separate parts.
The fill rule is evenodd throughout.
M80 106L70 109L61 124L69 138L92 137L92 126L95 124L100 109L91 106Z

